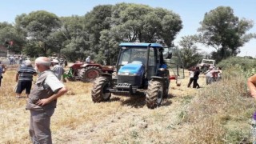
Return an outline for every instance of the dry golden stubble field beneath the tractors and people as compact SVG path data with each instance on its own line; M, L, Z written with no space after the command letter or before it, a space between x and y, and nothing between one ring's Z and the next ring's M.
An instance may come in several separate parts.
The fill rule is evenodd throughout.
M0 88L0 143L31 143L28 133L30 113L25 110L26 98L15 98L13 92L15 72L7 70L3 74ZM226 90L225 81L205 86L205 78L201 76L198 82L201 89L187 88L187 82L187 77L182 80L182 86L171 82L170 98L154 110L146 107L145 98L112 96L110 102L95 104L90 98L92 83L66 82L69 92L58 98L58 106L51 119L53 142L229 143L233 140L224 135L229 126L234 125L228 123L228 120L249 127L246 122L254 107L250 98L239 97L241 101L235 102L232 98L227 99L234 105L239 102L241 105L242 102L248 103L239 108L242 111L249 110L246 111L246 118L240 118L236 109L222 109L222 106L230 106L223 102L225 100L216 98L212 93L206 94L209 90L213 91L214 86ZM232 90L226 91L225 94L229 94ZM218 94L218 91L213 93ZM226 122L226 127L219 126L222 122Z

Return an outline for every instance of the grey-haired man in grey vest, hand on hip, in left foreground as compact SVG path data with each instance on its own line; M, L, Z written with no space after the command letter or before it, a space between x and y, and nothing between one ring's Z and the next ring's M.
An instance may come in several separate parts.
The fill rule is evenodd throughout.
M37 58L35 67L38 78L26 102L26 110L30 110L30 138L32 143L52 144L50 117L54 114L57 99L67 89L50 70L50 58Z

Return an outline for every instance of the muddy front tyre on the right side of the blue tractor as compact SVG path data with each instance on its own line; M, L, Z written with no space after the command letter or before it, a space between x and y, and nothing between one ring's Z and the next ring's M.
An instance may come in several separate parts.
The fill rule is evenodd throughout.
M148 90L146 91L146 106L150 109L160 106L163 93L162 82L151 80L149 82Z

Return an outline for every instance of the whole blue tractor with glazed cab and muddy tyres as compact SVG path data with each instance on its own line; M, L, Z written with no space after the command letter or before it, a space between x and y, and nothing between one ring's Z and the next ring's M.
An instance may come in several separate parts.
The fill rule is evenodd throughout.
M93 102L106 102L111 94L146 95L146 106L154 109L168 97L170 74L164 59L171 52L158 43L121 43L116 74L101 74L91 90Z

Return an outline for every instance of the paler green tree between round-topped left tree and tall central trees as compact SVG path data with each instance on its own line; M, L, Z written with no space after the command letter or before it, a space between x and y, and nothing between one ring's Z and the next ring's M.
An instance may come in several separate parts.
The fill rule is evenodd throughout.
M62 28L58 31L58 37L55 37L55 43L62 43L61 53L73 62L91 54L93 51L90 50L90 35L85 28L85 18L74 15L60 19Z

